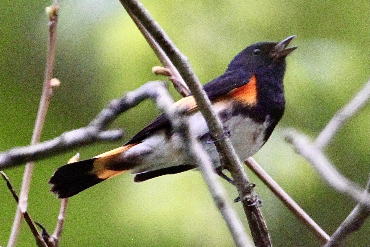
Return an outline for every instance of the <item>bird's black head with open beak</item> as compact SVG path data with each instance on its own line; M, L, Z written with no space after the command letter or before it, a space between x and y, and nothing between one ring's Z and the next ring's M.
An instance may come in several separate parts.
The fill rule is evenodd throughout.
M286 48L295 35L277 42L260 42L242 50L230 62L227 71L242 69L250 74L262 76L274 73L281 75L285 72L285 57L297 47Z

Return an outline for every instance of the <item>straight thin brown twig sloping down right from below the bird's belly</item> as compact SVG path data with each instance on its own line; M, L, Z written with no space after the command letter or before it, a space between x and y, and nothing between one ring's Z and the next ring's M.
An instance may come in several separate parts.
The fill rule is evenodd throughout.
M277 198L309 228L323 244L330 237L312 218L270 177L268 173L252 158L249 157L245 164L255 173L263 183L275 194Z

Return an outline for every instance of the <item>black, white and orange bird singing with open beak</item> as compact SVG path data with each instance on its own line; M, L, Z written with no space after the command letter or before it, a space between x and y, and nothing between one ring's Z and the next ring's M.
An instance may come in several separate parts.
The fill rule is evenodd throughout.
M283 116L286 57L297 48L287 46L294 37L246 47L231 60L225 73L203 86L242 161L266 143ZM190 133L209 154L215 171L222 170L194 96L174 104L186 109ZM188 161L179 138L162 113L123 146L58 168L49 181L51 192L58 198L71 197L125 171L135 174L135 182L142 182L192 170L196 165Z

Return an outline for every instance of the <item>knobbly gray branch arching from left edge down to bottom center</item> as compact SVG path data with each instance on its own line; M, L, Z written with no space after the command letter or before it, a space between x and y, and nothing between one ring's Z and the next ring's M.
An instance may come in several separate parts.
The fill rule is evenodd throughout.
M95 140L101 140L99 136L113 138L120 137L122 132L118 130L104 131L111 121L113 121L119 114L128 110L131 107L137 106L141 101L150 98L155 101L157 107L165 112L168 118L172 121L175 131L182 137L183 146L190 160L197 164L200 170L203 171L203 176L208 184L208 188L212 194L216 205L220 208L223 217L226 220L231 233L235 239L237 246L249 246L250 241L247 237L244 227L240 222L236 213L233 211L231 205L228 203L226 193L222 186L216 179L213 173L212 163L208 154L201 148L199 143L189 134L189 128L186 124L185 118L181 113L182 109L176 109L174 101L169 95L165 83L161 81L152 81L139 87L137 90L127 93L122 99L113 100L107 108L102 110L98 116L91 121L91 123L84 128L73 130L62 134L53 140L46 141L34 146L13 148L0 154L1 167L9 167L19 164L20 160L39 159L52 156L53 154L66 151L75 146L88 144ZM112 134L106 134L106 133ZM64 210L62 204L61 210ZM59 222L60 221L60 222ZM63 224L63 219L60 218L58 224ZM60 229L59 229L60 228ZM55 230L55 236L51 236L51 240L58 240L58 235L61 227ZM55 238L55 239L54 239Z

